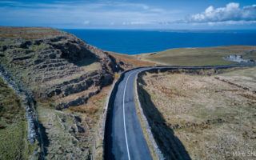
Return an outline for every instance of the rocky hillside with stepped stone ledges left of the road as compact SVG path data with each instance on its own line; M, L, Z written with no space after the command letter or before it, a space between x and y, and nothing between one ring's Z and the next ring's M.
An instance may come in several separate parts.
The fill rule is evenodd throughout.
M60 30L0 28L0 62L36 98L78 106L122 70L110 54Z

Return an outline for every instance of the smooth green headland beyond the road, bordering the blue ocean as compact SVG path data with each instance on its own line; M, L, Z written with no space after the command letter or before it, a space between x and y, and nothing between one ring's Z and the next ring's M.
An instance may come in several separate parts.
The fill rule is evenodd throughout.
M241 54L244 58L256 59L256 46L218 46L206 48L179 48L154 54L140 54L137 58L162 65L205 66L229 65L223 57Z

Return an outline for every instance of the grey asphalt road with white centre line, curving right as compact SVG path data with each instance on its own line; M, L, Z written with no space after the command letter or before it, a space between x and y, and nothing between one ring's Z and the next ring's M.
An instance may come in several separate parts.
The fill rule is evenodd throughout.
M134 81L136 74L150 69L226 69L237 66L158 66L138 68L122 74L110 95L105 130L105 159L152 159L142 133L134 102Z

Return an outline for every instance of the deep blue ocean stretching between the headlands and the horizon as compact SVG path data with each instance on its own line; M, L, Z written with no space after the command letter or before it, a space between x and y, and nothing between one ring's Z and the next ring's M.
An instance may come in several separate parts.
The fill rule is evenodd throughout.
M256 30L65 30L97 46L122 54L182 47L256 45Z

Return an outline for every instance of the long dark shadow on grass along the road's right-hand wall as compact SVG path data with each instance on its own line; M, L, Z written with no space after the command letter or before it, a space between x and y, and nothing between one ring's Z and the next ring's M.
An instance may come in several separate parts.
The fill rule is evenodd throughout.
M138 82L145 84L141 76L138 76ZM174 135L174 130L166 125L166 120L162 117L162 114L158 111L156 106L154 106L150 94L139 84L138 95L154 139L164 157L166 159L191 159L186 148L182 145L182 142Z

